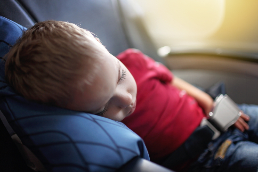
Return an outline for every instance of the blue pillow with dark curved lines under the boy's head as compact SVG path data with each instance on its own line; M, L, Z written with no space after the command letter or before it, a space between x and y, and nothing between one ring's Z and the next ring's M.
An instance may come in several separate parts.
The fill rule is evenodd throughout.
M0 16L0 56L26 28ZM143 140L123 123L26 100L4 80L0 109L13 130L48 171L115 171L132 158L149 160Z

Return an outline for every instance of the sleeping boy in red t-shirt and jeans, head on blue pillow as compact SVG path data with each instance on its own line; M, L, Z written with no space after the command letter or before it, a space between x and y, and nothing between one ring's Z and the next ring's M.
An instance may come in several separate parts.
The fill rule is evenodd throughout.
M122 121L143 138L154 162L184 144L213 107L208 94L139 50L116 58L68 22L35 24L5 60L6 80L26 99ZM258 107L240 108L248 116L242 113L237 129L212 141L189 171L257 171Z

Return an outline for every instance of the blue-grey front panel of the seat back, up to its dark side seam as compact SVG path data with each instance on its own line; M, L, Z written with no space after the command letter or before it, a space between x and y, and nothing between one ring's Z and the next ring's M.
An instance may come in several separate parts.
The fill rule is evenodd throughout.
M4 0L0 3L0 11L4 10L0 15L22 26L44 20L68 21L93 32L113 55L129 48L116 1Z

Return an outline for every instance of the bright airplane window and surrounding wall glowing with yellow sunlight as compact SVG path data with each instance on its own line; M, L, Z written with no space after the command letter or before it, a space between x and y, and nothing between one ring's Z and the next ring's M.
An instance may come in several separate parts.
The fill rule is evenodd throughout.
M258 1L132 0L157 48L258 58ZM167 52L167 47L163 48ZM162 55L162 50L161 55Z

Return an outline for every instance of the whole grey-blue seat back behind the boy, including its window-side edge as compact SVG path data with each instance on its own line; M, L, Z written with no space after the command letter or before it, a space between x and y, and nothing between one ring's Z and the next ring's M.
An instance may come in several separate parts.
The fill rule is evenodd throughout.
M137 48L164 64L128 0L2 0L0 15L24 27L44 20L75 23L93 32L112 55Z

